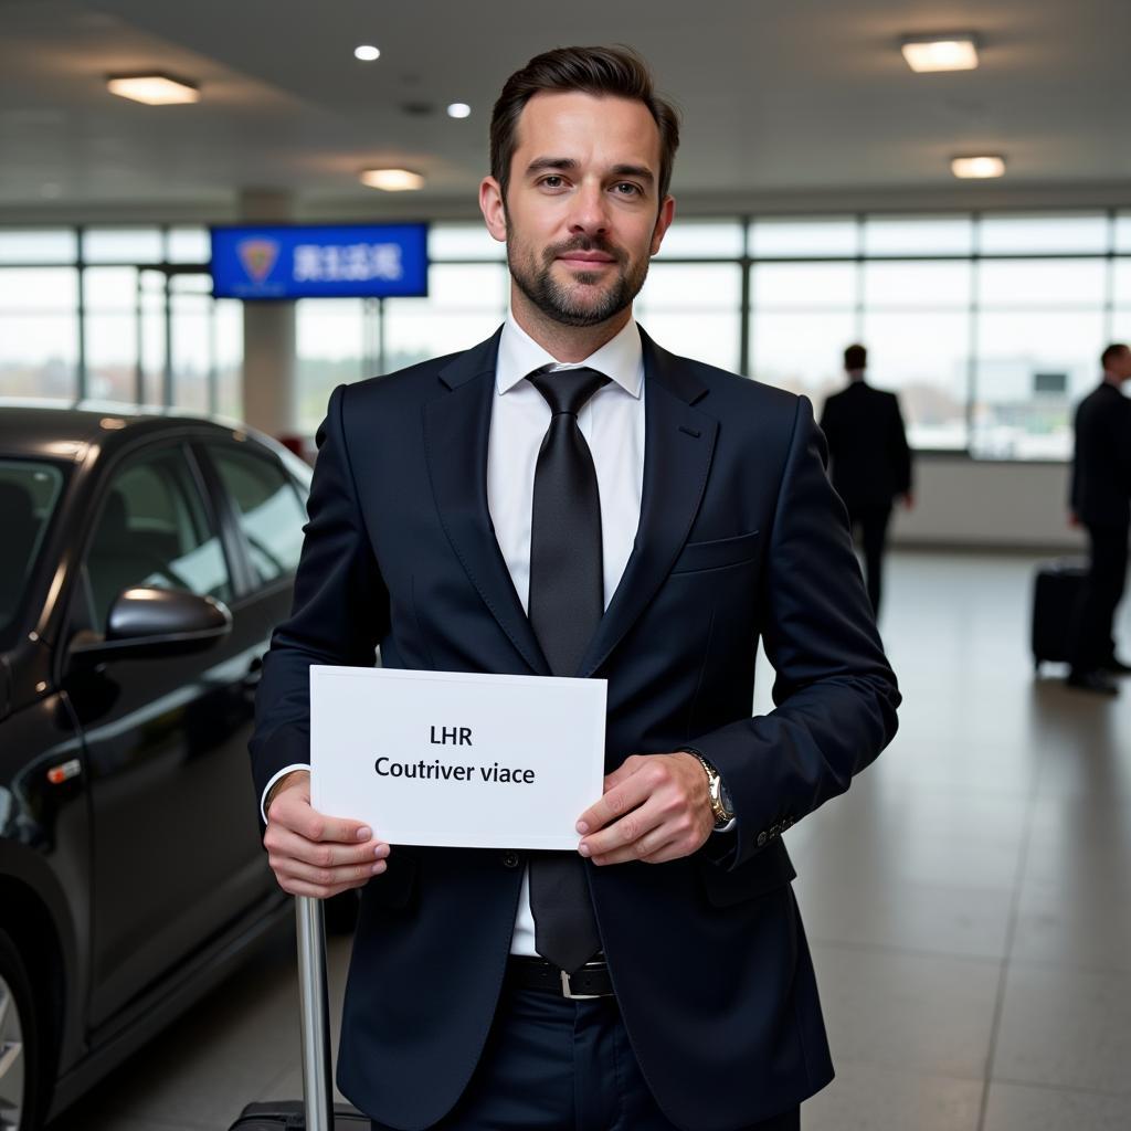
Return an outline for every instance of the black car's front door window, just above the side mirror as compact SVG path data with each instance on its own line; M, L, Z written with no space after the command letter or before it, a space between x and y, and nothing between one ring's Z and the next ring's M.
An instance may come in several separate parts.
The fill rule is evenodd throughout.
M231 599L224 552L181 448L132 459L111 478L86 579L100 630L114 598L131 586Z

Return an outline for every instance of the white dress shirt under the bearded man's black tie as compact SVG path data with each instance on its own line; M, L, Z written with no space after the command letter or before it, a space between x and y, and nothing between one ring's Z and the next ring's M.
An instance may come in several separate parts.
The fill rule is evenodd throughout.
M644 353L634 321L585 361L562 365L510 317L502 328L495 365L495 396L487 442L487 508L515 590L527 607L530 590L530 516L534 467L550 428L550 406L525 378L536 369L588 365L604 373L599 388L578 413L601 492L601 545L605 607L632 553L644 490ZM594 801L597 798L594 797ZM578 813L578 817L581 814ZM529 874L523 877L512 955L536 955Z

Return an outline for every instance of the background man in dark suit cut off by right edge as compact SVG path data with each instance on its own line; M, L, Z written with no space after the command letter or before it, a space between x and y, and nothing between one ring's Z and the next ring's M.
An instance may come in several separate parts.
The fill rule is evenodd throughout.
M1112 675L1131 667L1115 655L1113 623L1128 572L1131 524L1131 348L1110 345L1102 356L1104 379L1076 411L1076 457L1070 506L1088 532L1091 561L1069 649L1068 685L1113 696Z

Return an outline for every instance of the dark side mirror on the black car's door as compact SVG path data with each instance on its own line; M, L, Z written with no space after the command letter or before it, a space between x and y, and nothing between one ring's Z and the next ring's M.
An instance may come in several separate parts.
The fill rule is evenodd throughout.
M126 589L110 606L101 640L77 640L76 657L101 662L115 656L183 656L201 651L232 631L232 614L215 597L182 589Z

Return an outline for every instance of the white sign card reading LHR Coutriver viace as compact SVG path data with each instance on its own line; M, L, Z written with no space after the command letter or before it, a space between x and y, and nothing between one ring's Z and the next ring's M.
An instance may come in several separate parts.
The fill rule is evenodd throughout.
M389 844L576 849L604 680L310 668L311 803Z

